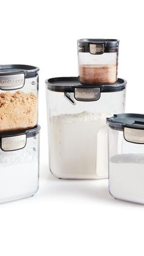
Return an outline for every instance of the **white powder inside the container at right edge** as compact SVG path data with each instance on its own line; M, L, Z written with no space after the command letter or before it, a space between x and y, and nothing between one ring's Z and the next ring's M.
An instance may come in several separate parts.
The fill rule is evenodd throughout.
M109 189L117 199L144 203L144 154L113 156L109 162Z

